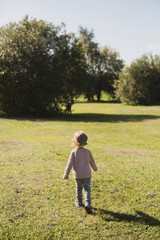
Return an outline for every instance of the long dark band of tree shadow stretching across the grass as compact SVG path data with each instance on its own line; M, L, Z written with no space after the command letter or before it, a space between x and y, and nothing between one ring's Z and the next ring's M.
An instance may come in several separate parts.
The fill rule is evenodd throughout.
M72 115L57 115L50 117L7 117L0 116L3 119L15 119L18 121L66 121L66 122L139 122L149 119L159 119L155 115L129 115L129 114L102 114L102 113L81 113Z

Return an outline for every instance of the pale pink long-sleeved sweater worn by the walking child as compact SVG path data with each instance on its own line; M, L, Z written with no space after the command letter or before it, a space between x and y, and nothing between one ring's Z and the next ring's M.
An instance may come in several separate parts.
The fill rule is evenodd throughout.
M75 148L69 156L63 178L69 178L71 169L75 179L91 178L90 166L94 171L98 170L91 151L86 148Z

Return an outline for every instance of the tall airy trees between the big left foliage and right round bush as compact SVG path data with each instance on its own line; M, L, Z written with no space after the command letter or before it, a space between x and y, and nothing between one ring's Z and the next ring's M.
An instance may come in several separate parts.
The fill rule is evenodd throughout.
M84 46L87 63L85 95L93 100L94 95L100 101L101 92L114 94L114 79L117 79L124 63L117 51L103 47L94 42L93 31L80 28L80 41Z

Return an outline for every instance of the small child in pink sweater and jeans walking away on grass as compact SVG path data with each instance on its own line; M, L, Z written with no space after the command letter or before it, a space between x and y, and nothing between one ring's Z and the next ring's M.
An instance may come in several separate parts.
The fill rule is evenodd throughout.
M73 170L73 176L76 181L76 197L75 205L77 207L83 206L82 203L82 189L84 189L85 195L85 210L87 213L92 214L91 207L91 168L97 171L98 168L92 156L90 150L84 148L87 144L87 134L83 131L76 132L73 138L73 145L75 147L72 150L68 163L65 169L63 178L68 179L71 169Z

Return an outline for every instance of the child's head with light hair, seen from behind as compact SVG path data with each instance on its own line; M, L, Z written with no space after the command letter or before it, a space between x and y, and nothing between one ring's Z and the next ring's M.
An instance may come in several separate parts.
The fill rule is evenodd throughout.
M87 139L88 137L85 132L83 131L75 132L74 138L73 138L74 147L77 147L77 148L84 147L85 145L87 145Z

